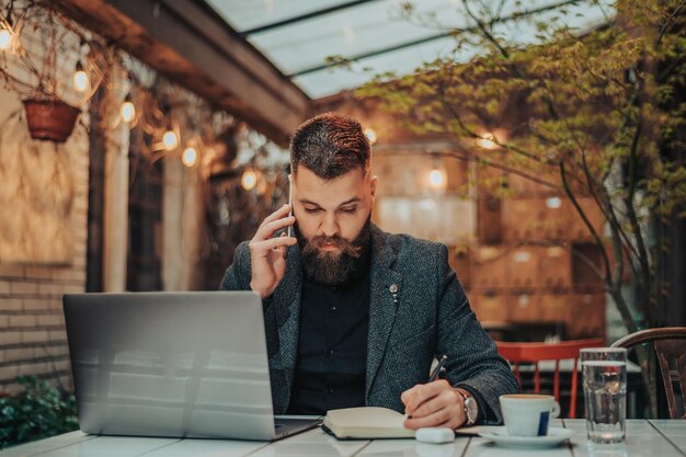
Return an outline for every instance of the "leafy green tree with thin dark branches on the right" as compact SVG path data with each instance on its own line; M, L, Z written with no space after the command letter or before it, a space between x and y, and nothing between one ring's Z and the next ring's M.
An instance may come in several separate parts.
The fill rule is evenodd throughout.
M527 45L499 34L502 11L459 4L470 23L450 33L456 56L464 43L481 54L377 78L358 95L381 100L411 132L455 137L468 160L592 198L610 229L592 235L619 266L607 262L603 279L625 325L664 324L655 306L664 287L651 266L660 264L660 244L649 237L650 225L685 210L686 1L619 0L610 14L603 10L605 24L583 34L565 25L569 11L515 14L513 27L528 24L537 34ZM479 148L482 135L498 130L499 153ZM496 176L480 179L480 190L498 195L499 187ZM621 295L624 271L634 279L636 306Z

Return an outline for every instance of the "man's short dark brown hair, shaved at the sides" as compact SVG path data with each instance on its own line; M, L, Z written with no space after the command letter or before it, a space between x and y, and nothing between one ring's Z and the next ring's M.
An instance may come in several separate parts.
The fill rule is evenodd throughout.
M290 140L291 172L304 165L332 180L351 170L369 169L370 146L362 125L352 117L325 113L302 123Z

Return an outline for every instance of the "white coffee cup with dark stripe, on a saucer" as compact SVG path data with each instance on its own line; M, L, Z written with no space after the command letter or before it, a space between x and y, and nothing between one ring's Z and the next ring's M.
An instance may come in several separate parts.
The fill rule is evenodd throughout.
M560 415L560 404L552 396L500 396L500 408L510 436L546 436L550 419Z

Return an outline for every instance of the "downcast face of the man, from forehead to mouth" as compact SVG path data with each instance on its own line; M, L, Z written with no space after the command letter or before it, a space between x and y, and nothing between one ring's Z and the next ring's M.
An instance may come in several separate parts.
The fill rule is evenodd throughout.
M307 240L317 239L320 251L338 255L342 238L353 242L371 214L376 176L357 169L333 180L323 180L306 167L293 176L293 212L298 231Z

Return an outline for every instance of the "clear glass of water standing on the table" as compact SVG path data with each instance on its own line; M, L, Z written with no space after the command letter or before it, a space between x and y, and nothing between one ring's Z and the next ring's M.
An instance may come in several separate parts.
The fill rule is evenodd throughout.
M593 443L620 443L627 419L627 350L581 350L586 430Z

